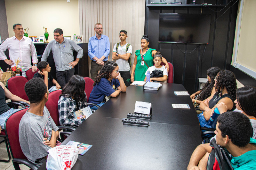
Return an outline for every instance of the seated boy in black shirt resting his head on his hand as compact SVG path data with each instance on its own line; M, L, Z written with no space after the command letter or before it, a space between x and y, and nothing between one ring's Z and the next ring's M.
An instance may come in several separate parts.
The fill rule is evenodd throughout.
M43 78L44 83L46 84L46 86L48 86L49 92L60 89L59 83L51 75L51 72L50 72L51 67L48 62L46 61L39 62L37 65L37 68L39 69L39 71L35 73L34 78L35 77ZM53 86L52 83L56 86Z

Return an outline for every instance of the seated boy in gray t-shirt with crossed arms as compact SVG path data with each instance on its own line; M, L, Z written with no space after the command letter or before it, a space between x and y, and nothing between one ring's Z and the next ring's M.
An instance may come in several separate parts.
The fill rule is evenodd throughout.
M29 161L40 166L47 159L48 149L56 146L59 128L45 107L49 92L42 78L29 80L25 92L31 104L20 120L20 147Z

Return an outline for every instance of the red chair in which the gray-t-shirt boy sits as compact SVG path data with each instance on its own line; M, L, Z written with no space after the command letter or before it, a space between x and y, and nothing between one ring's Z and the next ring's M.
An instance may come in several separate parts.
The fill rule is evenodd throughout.
M5 133L7 137L8 144L10 146L10 151L12 154L12 164L15 169L20 169L19 164L24 164L31 168L32 170L36 170L38 167L29 162L26 156L23 154L20 141L19 141L19 124L22 116L26 113L28 108L23 108L12 115L5 122Z

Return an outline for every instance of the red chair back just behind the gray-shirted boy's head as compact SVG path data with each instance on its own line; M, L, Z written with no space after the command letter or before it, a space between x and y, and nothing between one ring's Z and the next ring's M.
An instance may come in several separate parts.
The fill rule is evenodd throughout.
M13 76L7 80L7 88L8 90L16 95L19 96L21 99L28 101L28 96L25 93L24 87L25 84L28 82L27 78L23 76Z

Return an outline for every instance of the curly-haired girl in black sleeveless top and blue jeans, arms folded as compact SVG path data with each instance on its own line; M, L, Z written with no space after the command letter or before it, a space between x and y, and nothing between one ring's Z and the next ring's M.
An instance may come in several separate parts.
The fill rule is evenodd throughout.
M204 102L199 105L203 113L198 115L201 127L215 128L215 125L210 126L208 121L214 106L223 102L228 108L228 111L233 111L236 108L234 101L236 100L236 77L232 71L221 70L215 78L215 94L208 97Z

